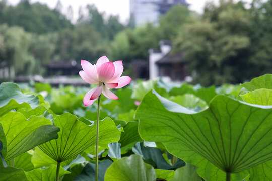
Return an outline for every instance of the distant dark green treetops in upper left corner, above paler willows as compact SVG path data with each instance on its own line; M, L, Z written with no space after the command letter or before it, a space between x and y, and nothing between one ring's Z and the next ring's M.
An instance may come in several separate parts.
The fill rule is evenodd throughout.
M62 28L73 27L71 22L60 12L50 10L47 5L21 0L16 6L0 5L0 23L9 26L21 26L28 32L46 33Z

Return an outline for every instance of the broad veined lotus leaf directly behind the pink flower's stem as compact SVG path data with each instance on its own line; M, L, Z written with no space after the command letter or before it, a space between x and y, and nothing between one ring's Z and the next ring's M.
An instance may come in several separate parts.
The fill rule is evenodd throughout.
M64 113L56 115L51 110L46 110L43 106L34 110L20 110L24 115L43 115L48 111L54 117L54 125L60 128L59 137L39 148L55 161L63 162L76 157L82 151L87 153L95 149L96 122L93 125L86 125L79 121L75 115ZM115 123L110 118L105 118L99 124L99 147L108 148L110 142L118 142L121 131L116 128Z

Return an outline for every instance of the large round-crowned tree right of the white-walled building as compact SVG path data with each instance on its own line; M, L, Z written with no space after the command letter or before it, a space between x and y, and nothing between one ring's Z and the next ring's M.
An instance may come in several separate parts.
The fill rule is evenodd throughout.
M197 72L196 82L203 85L242 82L255 69L248 62L253 46L250 26L250 14L243 4L232 1L221 1L219 6L208 4L201 19L182 26L174 50L184 52L190 71Z

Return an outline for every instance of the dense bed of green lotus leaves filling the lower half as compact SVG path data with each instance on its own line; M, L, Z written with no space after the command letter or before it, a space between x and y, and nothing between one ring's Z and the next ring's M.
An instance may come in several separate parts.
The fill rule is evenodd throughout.
M271 81L271 74L208 88L138 81L118 89L119 100L102 97L101 112L114 121L100 121L99 180L272 179ZM41 95L0 85L0 180L54 180L58 162L62 180L93 179L96 118L86 116L96 105L83 106L88 88L32 86L23 92L47 92L51 108Z

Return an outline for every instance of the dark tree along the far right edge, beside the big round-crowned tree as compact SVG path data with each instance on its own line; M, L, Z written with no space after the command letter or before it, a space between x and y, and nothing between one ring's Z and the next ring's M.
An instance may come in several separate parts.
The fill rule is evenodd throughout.
M253 46L250 47L251 56L248 64L255 67L255 71L247 73L247 77L259 76L260 72L272 71L272 1L262 3L254 0L249 9L251 14L250 39Z

